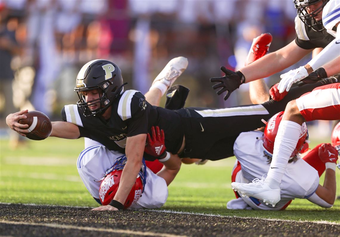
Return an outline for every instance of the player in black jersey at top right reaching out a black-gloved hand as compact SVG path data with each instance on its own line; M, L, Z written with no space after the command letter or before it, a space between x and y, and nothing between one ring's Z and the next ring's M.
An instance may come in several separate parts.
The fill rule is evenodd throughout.
M322 10L328 1L294 0L298 9L295 18L295 40L237 72L222 70L225 73L224 77L210 79L211 82L220 82L213 86L214 90L219 89L217 94L226 92L224 97L226 100L241 84L278 73L300 61L314 48L325 48L334 41L335 37L329 34L322 24ZM336 31L336 28L333 30Z

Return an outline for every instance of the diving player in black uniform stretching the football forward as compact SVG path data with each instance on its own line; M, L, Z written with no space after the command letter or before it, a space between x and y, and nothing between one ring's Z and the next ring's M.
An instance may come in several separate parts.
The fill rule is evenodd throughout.
M321 84L292 89L279 102L271 100L259 105L215 110L182 108L171 111L151 106L140 92L123 92L119 67L106 60L94 60L85 64L78 74L75 91L80 97L79 102L64 107L65 122L53 122L51 136L88 137L110 151L125 152L128 161L122 172L121 185L112 205L104 208L118 210L123 208L141 169L146 136L152 126L158 125L166 134L168 153L161 158L165 168L158 176L169 184L180 169L180 157L218 160L233 156L233 144L241 132L257 129L261 126L261 119L269 119L282 111L288 101ZM173 96L176 97L176 91ZM26 117L22 115L24 112L6 118L7 125L23 136L29 132L27 125L18 123ZM235 126L235 123L242 125Z

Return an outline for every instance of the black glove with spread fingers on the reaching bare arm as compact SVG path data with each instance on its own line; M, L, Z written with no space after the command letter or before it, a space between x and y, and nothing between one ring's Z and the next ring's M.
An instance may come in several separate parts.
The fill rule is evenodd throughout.
M221 95L223 92L227 92L224 96L224 100L227 100L230 94L235 91L237 88L240 87L241 84L244 83L245 78L244 75L240 72L233 72L225 68L224 66L221 67L221 71L225 73L224 77L214 77L210 78L210 82L220 82L212 88L216 90L217 88L222 87L218 92L217 95Z

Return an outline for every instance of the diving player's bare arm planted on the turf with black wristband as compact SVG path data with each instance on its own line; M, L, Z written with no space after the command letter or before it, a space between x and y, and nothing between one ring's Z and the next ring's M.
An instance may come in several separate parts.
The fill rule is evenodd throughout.
M146 137L146 134L138 134L126 139L125 154L127 161L122 172L117 193L109 205L100 206L92 210L118 211L123 209L123 203L125 203L142 166Z

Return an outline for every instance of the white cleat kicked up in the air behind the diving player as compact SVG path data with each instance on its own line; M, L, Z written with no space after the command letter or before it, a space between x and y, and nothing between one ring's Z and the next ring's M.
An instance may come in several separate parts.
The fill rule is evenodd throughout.
M188 59L185 57L171 59L163 68L162 72L160 72L152 82L152 85L155 84L155 82L160 81L169 88L177 79L177 77L181 76L184 70L186 70L187 66Z

